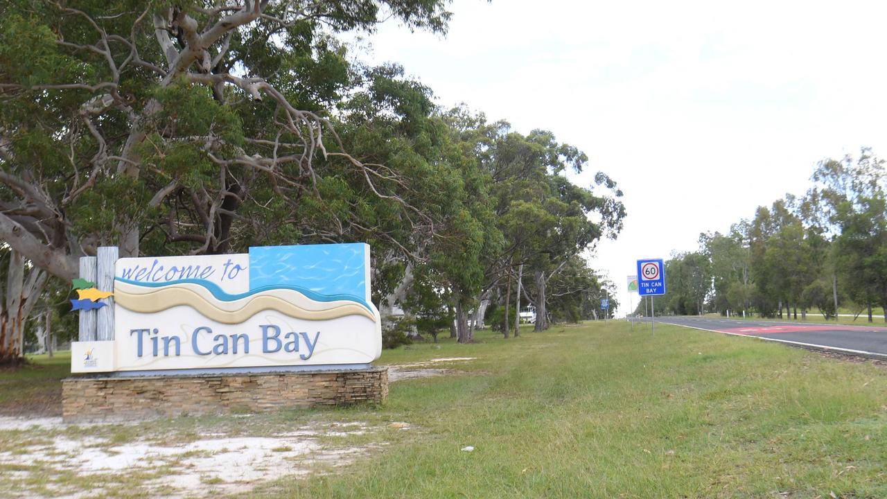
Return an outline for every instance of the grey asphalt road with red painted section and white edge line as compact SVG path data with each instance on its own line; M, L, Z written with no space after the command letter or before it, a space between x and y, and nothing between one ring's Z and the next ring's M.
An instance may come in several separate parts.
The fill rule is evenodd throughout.
M845 324L732 321L706 317L656 317L656 322L731 335L759 337L789 345L887 357L887 328Z

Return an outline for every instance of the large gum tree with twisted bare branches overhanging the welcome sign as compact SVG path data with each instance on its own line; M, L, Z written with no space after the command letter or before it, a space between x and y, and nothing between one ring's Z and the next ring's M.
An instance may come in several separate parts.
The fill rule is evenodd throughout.
M401 154L421 99L396 70L349 63L335 35L391 17L443 33L446 3L0 4L6 297L35 299L41 272L70 281L98 245L210 254L373 234L411 254L434 220L410 200L436 172Z

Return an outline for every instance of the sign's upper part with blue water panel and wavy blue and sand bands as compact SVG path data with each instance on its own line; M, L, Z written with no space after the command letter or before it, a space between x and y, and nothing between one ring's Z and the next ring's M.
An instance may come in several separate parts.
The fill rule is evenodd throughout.
M221 257L212 262L216 265L201 261L202 266L182 257L158 257L150 268L142 265L141 280L137 278L138 262L123 268L114 280L114 297L117 305L135 313L187 305L224 324L247 321L264 310L309 321L345 315L374 321L375 309L367 301L368 259L369 246L364 243L250 248L248 256ZM200 272L200 278L185 277L189 269ZM161 273L162 279L153 273ZM181 277L176 279L177 275ZM247 291L226 291L222 284L229 281L240 284L227 289Z

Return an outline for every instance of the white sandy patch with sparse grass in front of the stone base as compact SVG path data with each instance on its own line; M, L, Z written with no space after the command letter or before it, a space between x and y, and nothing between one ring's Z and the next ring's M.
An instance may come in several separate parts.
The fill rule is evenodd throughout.
M33 439L21 440L14 448L0 452L0 470L4 474L14 471L0 484L0 495L77 497L94 494L92 487L127 489L146 496L162 491L162 496L171 498L241 495L263 482L352 463L384 445L335 445L326 439L381 431L358 422L305 424L271 436L208 433L180 445L150 440L119 442L90 436L89 432L39 436L46 429L65 427L59 418L0 418L0 431L34 434ZM67 479L31 487L41 476Z

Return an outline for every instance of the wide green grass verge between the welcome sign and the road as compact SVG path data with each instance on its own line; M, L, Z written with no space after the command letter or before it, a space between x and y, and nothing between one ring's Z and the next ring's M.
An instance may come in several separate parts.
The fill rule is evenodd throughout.
M887 373L872 364L616 321L481 339L384 352L479 359L448 366L474 376L392 384L381 408L335 412L418 432L250 496L887 496Z

